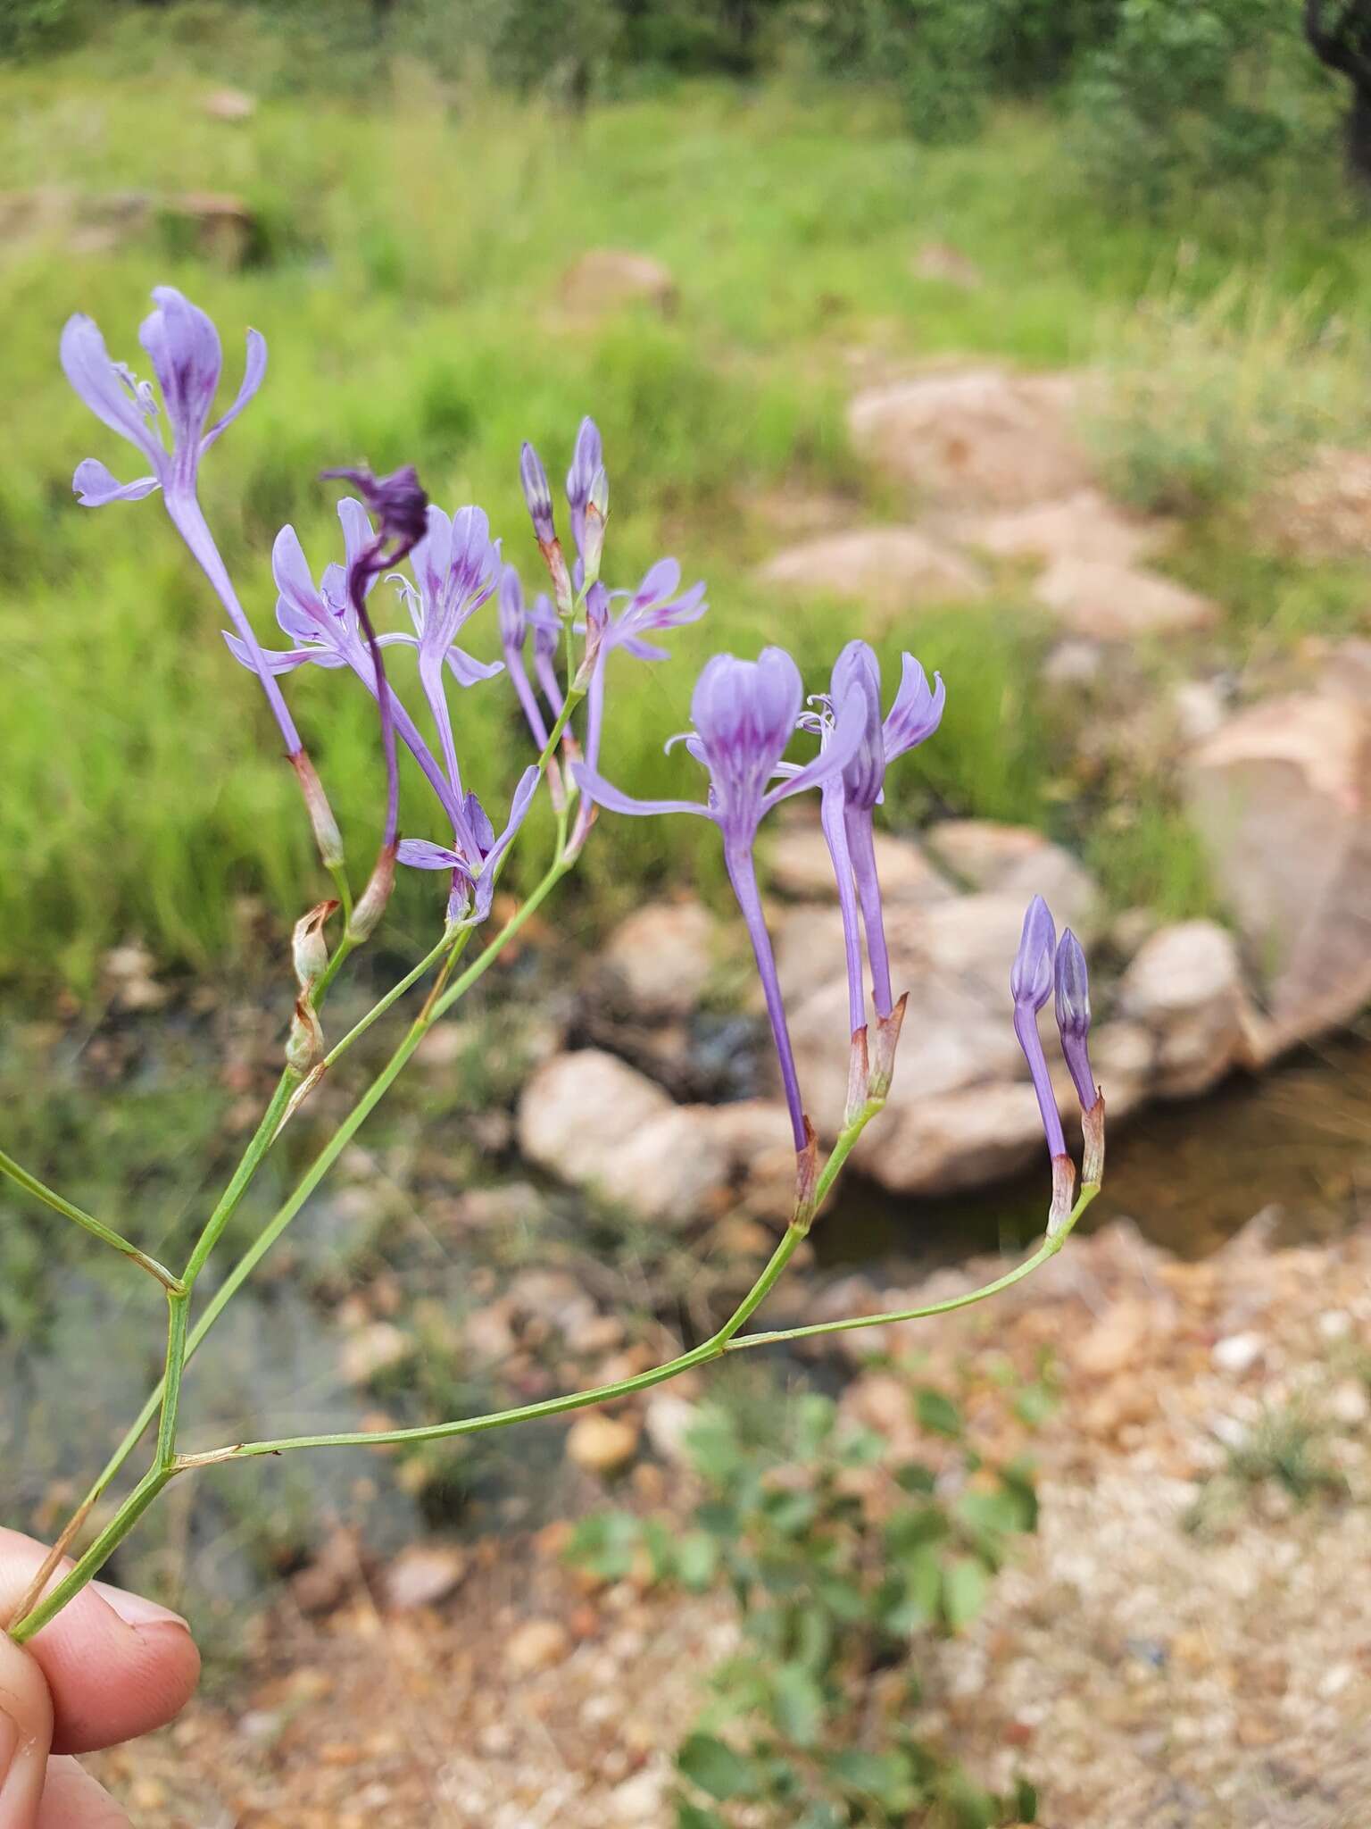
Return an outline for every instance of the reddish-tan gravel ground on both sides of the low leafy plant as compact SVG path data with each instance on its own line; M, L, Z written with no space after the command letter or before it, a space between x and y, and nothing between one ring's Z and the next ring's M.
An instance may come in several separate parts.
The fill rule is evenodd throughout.
M848 1280L819 1306L909 1295ZM1254 1222L1183 1264L1113 1225L879 1344L894 1368L870 1335L823 1352L845 1408L890 1432L912 1428L910 1375L949 1379L983 1445L1013 1450L1005 1361L1029 1379L1051 1355L1062 1381L1031 1438L1038 1535L930 1650L929 1732L989 1781L1027 1770L1046 1829L1366 1829L1371 1229L1274 1253ZM687 1500L653 1461L631 1489ZM197 1705L102 1776L148 1829L665 1829L728 1608L594 1589L563 1540L479 1544L433 1606L388 1608L360 1567L322 1617L282 1602L232 1706Z

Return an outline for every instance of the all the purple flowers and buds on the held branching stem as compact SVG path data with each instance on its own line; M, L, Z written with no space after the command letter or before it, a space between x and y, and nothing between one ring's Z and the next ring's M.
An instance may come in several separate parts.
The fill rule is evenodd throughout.
M724 863L760 975L799 1160L799 1213L804 1216L813 1194L815 1136L804 1110L757 885L757 832L781 801L819 790L846 953L852 1033L846 1123L859 1127L890 1088L905 1008L892 982L872 818L885 796L887 768L938 730L945 704L941 680L934 675L930 684L919 662L903 655L899 686L887 710L881 664L863 640L843 647L828 690L810 701L799 668L781 647L766 647L755 660L715 655L695 686L691 730L673 739L684 741L687 754L704 768L706 797L642 801L614 786L600 772L614 655L645 664L665 658L660 636L698 622L707 605L702 583L682 589L680 565L673 558L658 560L631 589L611 589L601 580L609 474L601 435L590 419L579 426L565 483L570 556L561 545L547 466L532 444L521 452L519 477L548 576L547 593L525 593L517 569L505 560L481 508L444 512L428 501L411 468L380 479L366 470L325 472L345 477L356 490L338 505L342 556L316 574L296 530L280 530L271 572L276 622L289 646L267 649L234 593L196 494L201 457L261 384L265 344L256 331L249 331L247 373L238 399L208 424L221 371L218 331L172 287L159 287L154 302L141 342L159 391L122 362L112 360L90 318L71 318L62 333L62 364L75 390L152 466L150 476L117 483L102 463L86 459L77 468L75 488L88 507L135 501L161 488L172 521L228 615L232 629L225 631L225 638L232 655L261 680L331 867L342 863L338 830L278 682L302 666L345 669L375 699L386 754L386 819L380 860L353 913L351 938L366 938L375 925L397 863L446 876L448 929L483 922L503 860L543 775L548 777L558 814L563 865L574 861L585 845L596 808L711 819L720 832ZM408 574L397 571L402 562L408 562ZM408 613L413 633L377 633L371 604L382 582L397 587L397 602ZM459 638L488 604L495 605L503 658L481 662ZM428 722L437 732L437 752L388 677L384 653L397 647L415 655L417 686ZM464 693L499 675L506 675L514 688L537 761L515 785L497 834L495 821L464 781L459 719L450 691L455 686ZM792 757L795 741L812 746L812 754ZM408 752L433 790L435 810L444 823L441 838L399 836L399 750ZM307 929L311 944L318 940L324 918L313 918ZM1036 1032L1036 1011L1053 984L1066 1059L1088 1114L1088 1172L1093 1160L1089 1114L1097 1112L1102 1125L1102 1103L1086 1057L1089 999L1084 955L1069 933L1057 946L1051 914L1040 900L1029 909L1011 982L1015 1030L1029 1061L1053 1156L1053 1222L1060 1224L1069 1209L1075 1169L1062 1141ZM876 1024L870 1046L868 1000Z

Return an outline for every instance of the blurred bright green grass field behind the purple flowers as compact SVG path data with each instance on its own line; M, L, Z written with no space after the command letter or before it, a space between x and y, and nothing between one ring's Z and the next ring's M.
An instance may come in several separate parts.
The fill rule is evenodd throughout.
M673 640L673 662L622 662L605 766L651 794L678 792L662 739L686 721L709 651L781 640L819 684L859 631L850 609L779 607L760 591L751 569L779 536L749 508L781 485L861 488L843 430L854 351L1091 360L1100 326L1175 265L1181 241L1196 294L1247 273L1274 296L1316 280L1338 309L1371 276L1364 236L1334 205L1320 214L1272 196L1261 214L1216 198L1185 221L1110 210L1080 188L1058 124L1029 112L1002 112L976 144L929 150L850 90L695 84L567 117L481 90L453 97L404 68L367 104L276 93L265 77L256 113L223 123L205 110L223 62L130 24L113 48L0 71L11 190L228 192L258 223L243 271L197 260L166 225L84 254L58 238L4 251L0 975L27 984L84 988L128 933L203 968L230 946L234 896L261 894L285 922L320 887L274 730L157 501L73 505L80 457L132 470L60 377L71 311L90 311L112 353L132 358L148 287L177 283L223 329L227 386L241 327L265 331L267 384L216 446L203 494L269 638L280 523L296 523L316 565L336 545L322 468L417 463L437 501L490 510L532 580L519 441L556 470L592 412L614 488L614 580L673 551L713 605ZM954 243L983 285L918 278L927 241ZM587 247L664 260L678 313L567 318L559 278ZM868 499L881 507L879 492ZM1208 587L1243 558L1212 538L1205 554ZM1307 580L1292 589L1307 594ZM1033 686L1044 631L1011 607L932 613L883 644L892 660L912 644L951 691L896 823L930 807L1069 823L1060 796L1044 794L1062 743ZM484 653L492 620L472 631ZM364 860L380 781L369 708L336 675L305 669L289 690ZM464 695L459 728L477 788L497 801L525 759L510 697L497 684ZM1144 860L1164 849L1168 818L1155 812ZM431 827L417 797L406 825ZM574 918L673 876L709 889L709 836L696 821L618 821L612 843L589 849ZM1113 887L1137 891L1126 871ZM430 918L422 889L406 885L402 920Z

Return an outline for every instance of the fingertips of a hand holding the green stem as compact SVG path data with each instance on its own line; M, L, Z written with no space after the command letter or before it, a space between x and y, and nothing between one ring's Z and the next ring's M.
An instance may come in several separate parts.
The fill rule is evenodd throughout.
M31 1536L0 1531L0 1619L13 1617L44 1556ZM163 1727L197 1679L186 1622L104 1582L84 1588L27 1646L0 1631L0 1829L128 1829L69 1754Z

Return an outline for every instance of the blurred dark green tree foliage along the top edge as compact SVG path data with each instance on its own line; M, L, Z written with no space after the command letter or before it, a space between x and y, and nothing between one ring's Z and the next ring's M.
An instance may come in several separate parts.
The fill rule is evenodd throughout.
M214 18L207 0L4 0L0 57L154 5L185 42ZM1296 0L241 0L236 11L247 9L289 26L302 86L367 86L386 55L422 59L439 79L484 68L579 104L664 77L746 79L804 60L896 93L923 141L974 135L1000 97L1053 95L1091 183L1135 205L1325 154L1344 88L1333 70L1349 73L1347 46L1366 62L1342 16L1329 24L1314 4L1307 33Z

